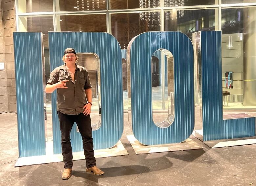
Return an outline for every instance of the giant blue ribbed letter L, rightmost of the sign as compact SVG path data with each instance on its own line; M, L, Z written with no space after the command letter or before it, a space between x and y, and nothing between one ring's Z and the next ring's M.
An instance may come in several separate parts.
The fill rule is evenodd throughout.
M223 120L221 31L194 33L193 39L201 45L203 140L255 136L255 117Z

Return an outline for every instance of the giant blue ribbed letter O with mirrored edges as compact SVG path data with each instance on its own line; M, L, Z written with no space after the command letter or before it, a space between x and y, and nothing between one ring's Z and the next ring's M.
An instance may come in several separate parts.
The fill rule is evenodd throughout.
M167 128L153 122L151 57L166 49L174 58L174 121ZM191 40L181 32L145 32L127 48L131 86L131 119L135 138L145 145L180 143L193 132L194 55ZM128 84L129 87L129 84ZM169 113L170 114L170 113ZM169 117L163 122L170 123Z

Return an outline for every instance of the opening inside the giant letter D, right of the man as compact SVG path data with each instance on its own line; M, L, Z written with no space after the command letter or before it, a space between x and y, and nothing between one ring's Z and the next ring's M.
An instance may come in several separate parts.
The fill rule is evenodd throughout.
M77 65L87 69L92 86L92 130L99 129L101 125L101 101L100 101L100 63L95 53L76 53L78 56ZM97 113L97 114L96 114Z

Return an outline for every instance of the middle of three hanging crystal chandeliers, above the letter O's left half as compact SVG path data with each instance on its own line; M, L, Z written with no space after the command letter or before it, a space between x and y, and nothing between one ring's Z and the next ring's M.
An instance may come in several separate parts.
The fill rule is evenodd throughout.
M160 7L160 0L139 0L139 8ZM157 27L160 25L160 12L142 12L139 18L148 23L148 27Z

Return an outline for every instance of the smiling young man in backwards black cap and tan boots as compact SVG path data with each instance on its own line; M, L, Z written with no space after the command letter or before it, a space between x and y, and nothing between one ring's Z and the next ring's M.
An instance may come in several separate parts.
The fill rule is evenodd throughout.
M83 139L86 171L104 174L96 167L91 127L92 90L87 70L76 65L77 56L73 48L67 48L62 58L64 65L55 68L45 87L46 93L57 89L57 113L60 122L61 146L64 165L62 179L72 172L72 149L70 131L76 122ZM87 99L87 100L86 100Z

